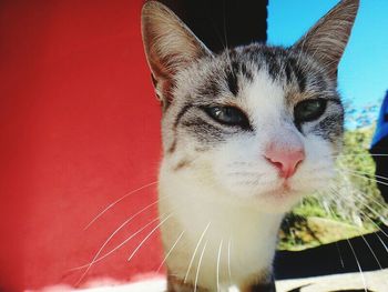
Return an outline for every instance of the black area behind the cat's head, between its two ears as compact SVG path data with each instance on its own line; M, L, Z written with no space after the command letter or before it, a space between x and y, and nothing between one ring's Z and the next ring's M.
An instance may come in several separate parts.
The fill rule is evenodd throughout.
M267 40L268 0L160 0L212 51Z

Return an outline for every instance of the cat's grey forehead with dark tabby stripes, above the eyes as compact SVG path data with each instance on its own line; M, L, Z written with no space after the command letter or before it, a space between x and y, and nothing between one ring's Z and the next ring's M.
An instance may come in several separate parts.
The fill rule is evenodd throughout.
M336 94L335 81L310 57L257 43L201 60L187 73L192 75L187 80L193 81L191 85L195 88L195 94L211 100L244 98L242 93L257 88L257 83L265 91L280 89L284 98L292 103L323 92Z

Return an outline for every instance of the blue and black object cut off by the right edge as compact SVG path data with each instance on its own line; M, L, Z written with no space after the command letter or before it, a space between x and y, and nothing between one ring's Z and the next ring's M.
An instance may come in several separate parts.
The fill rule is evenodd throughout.
M388 203L388 91L380 108L370 153L376 163L377 187Z

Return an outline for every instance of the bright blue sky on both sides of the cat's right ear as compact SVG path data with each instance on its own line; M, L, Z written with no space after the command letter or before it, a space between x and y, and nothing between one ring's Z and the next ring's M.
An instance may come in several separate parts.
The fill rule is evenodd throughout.
M290 46L338 0L269 0L268 43ZM339 91L357 108L388 89L388 1L361 0L338 72Z

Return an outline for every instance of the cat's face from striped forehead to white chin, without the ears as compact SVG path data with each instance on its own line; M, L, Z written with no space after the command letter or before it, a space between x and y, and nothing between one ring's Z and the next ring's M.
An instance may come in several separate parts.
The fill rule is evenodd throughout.
M336 84L319 64L252 44L201 59L176 78L163 117L172 172L276 205L279 197L290 203L327 185L344 114ZM293 175L268 161L269 148L304 152Z

